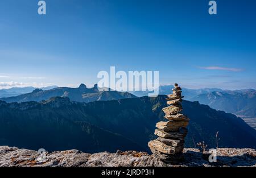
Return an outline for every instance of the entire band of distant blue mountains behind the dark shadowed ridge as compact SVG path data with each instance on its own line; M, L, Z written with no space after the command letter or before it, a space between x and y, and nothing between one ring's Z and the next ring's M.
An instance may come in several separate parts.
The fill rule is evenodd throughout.
M159 94L171 93L172 87L172 85L159 86ZM1 98L1 96L8 96L9 94L15 96ZM136 96L142 97L147 96L147 94L148 92L123 93L109 91L109 89L106 89L104 92L100 92L97 89L97 84L94 85L93 88L87 88L86 85L81 84L79 88L49 86L48 88L42 89L35 89L33 87L2 89L0 90L0 100L6 102L39 102L42 100L48 100L51 97L60 96L69 97L71 101L91 102L119 100L122 98L134 98ZM238 117L256 118L256 90L254 89L222 90L218 88L183 88L183 96L185 96L185 100L199 101L200 104L209 105L216 110L223 110L227 113L236 114Z

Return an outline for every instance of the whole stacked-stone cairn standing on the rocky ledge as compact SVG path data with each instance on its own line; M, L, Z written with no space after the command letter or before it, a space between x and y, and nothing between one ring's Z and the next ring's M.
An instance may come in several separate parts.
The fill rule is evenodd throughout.
M178 84L174 86L172 94L166 98L167 105L170 106L163 108L166 114L164 117L169 121L156 123L158 129L155 130L155 135L159 137L148 142L152 153L166 163L179 162L183 158L184 139L188 132L185 127L188 126L189 118L180 113L183 98L181 88Z

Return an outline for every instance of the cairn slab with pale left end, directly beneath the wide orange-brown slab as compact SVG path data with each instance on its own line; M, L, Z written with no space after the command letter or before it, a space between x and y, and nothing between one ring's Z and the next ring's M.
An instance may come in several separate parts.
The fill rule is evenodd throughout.
M162 138L171 138L171 139L179 139L184 140L187 135L188 130L185 128L181 128L179 131L166 132L160 129L155 130L155 135L160 136Z

